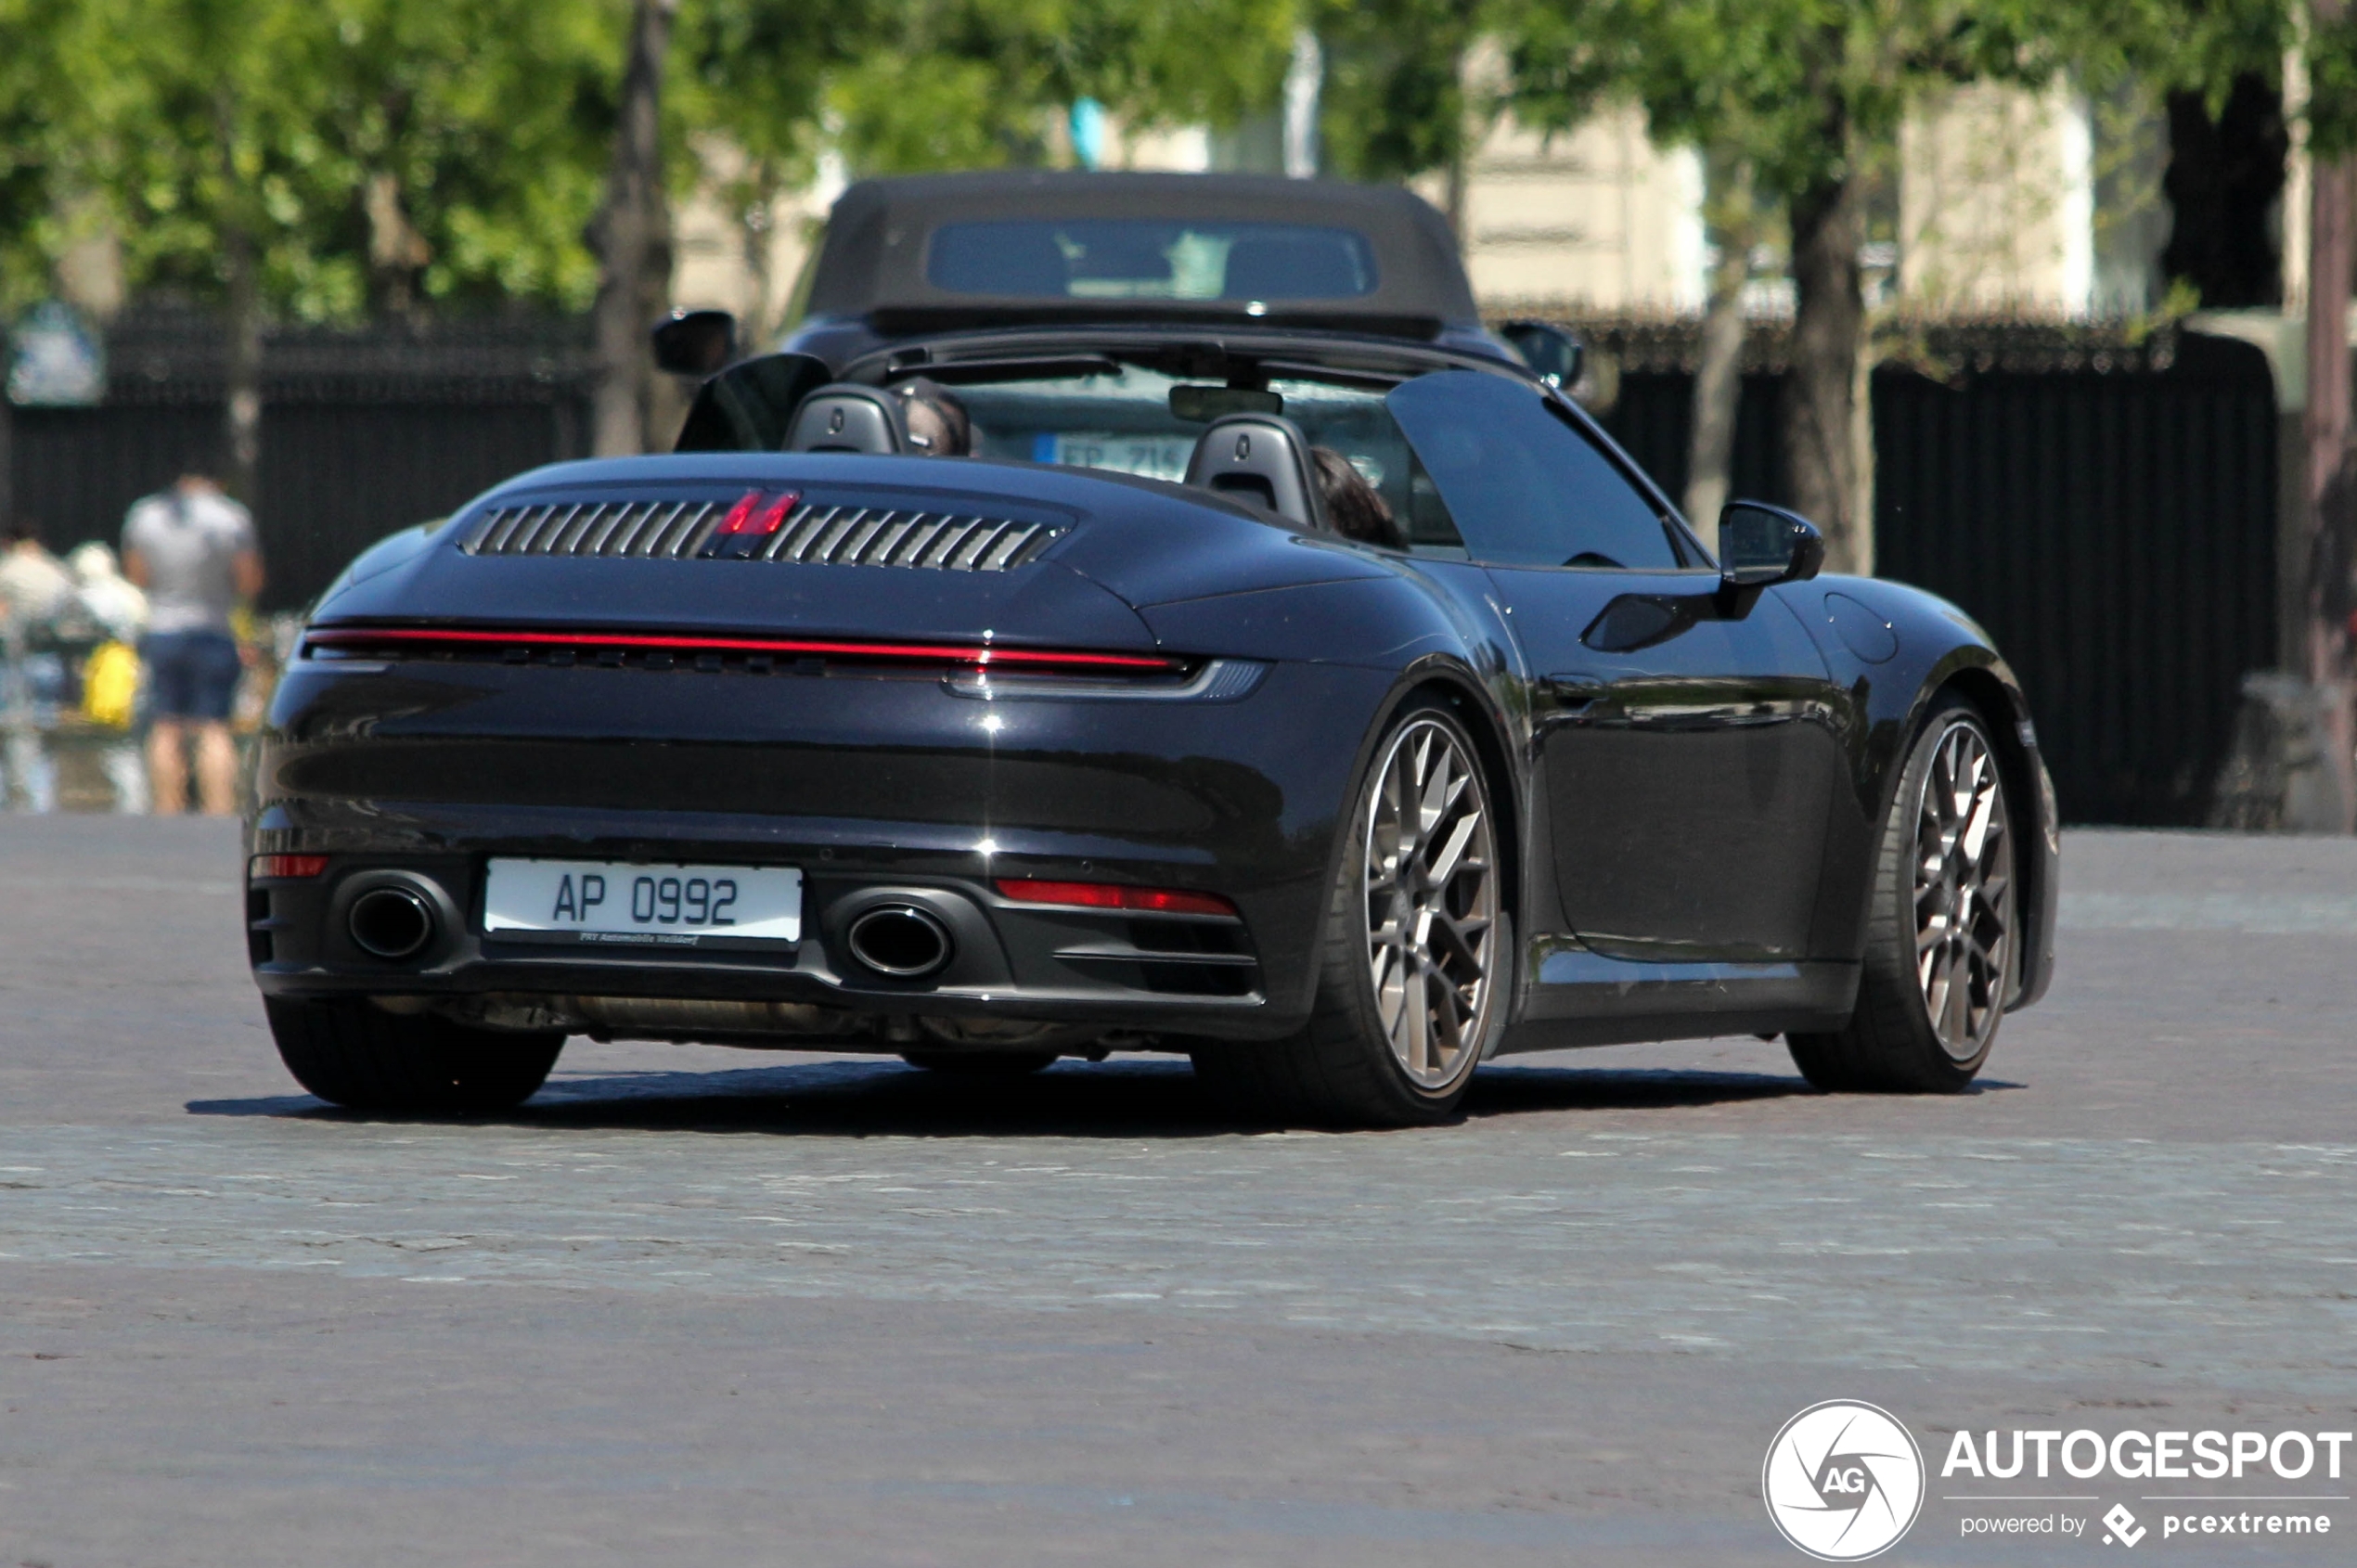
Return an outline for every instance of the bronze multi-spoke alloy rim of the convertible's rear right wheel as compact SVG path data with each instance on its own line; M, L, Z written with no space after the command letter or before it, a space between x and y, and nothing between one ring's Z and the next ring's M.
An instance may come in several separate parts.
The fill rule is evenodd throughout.
M1400 1070L1445 1089L1487 1037L1497 964L1497 835L1457 733L1412 719L1391 738L1365 823L1367 964Z

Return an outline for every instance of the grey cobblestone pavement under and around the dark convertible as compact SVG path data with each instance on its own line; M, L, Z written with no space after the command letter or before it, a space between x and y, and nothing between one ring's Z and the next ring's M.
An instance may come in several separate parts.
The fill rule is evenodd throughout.
M2350 1429L2357 844L2065 858L2062 979L1959 1099L1714 1040L1268 1137L1157 1059L575 1042L438 1125L283 1078L231 832L0 823L0 1566L1787 1563L1758 1464L1820 1398L1935 1467ZM2147 1507L2098 1485L2051 1507ZM1970 1514L1935 1476L1893 1561L2093 1549Z

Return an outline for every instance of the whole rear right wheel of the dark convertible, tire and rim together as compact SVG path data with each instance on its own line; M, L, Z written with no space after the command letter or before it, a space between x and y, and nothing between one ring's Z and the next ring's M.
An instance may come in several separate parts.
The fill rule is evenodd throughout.
M1417 1127L1457 1115L1513 983L1497 854L1471 736L1438 703L1409 707L1353 804L1308 1026L1202 1045L1195 1075L1247 1120Z

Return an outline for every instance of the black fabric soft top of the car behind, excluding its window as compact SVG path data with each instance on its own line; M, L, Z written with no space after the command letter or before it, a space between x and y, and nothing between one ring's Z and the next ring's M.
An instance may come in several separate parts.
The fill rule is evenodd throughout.
M978 219L1181 219L1322 224L1365 236L1376 285L1351 299L1037 299L926 281L936 229ZM1077 174L1006 170L863 179L834 203L811 278L811 316L879 332L1049 321L1256 321L1407 337L1480 328L1447 222L1412 191L1270 174Z

